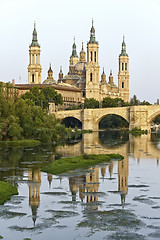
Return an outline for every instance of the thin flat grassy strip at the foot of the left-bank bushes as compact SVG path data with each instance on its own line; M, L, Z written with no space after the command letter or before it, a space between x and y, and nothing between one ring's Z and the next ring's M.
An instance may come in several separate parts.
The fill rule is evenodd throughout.
M23 139L16 141L0 141L0 147L35 147L41 144L38 140Z

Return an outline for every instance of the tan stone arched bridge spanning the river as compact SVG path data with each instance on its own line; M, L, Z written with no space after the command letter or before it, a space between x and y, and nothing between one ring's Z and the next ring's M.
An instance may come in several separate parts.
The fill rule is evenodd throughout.
M99 122L102 118L108 114L116 114L128 121L130 129L138 127L150 131L151 122L160 115L160 105L79 109L52 113L60 120L67 117L77 118L82 122L82 129L86 130L91 129L97 131L99 129Z

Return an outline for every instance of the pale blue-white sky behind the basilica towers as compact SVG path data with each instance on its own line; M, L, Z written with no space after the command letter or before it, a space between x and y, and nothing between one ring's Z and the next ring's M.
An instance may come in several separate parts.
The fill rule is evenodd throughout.
M29 45L34 21L41 46L42 82L49 64L54 79L66 75L75 36L77 53L86 50L94 19L100 75L110 69L118 84L123 35L129 55L130 97L160 98L159 0L0 0L0 81L28 82Z

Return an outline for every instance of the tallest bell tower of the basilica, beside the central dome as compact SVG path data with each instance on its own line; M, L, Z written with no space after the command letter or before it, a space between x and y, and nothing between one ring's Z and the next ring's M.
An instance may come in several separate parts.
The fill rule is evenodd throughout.
M95 37L95 28L92 20L90 40L87 43L87 64L86 68L86 98L99 100L99 63L98 63L98 42Z

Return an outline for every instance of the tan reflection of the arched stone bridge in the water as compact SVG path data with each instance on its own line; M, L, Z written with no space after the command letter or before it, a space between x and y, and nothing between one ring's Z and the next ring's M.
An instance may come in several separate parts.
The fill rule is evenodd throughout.
M83 154L110 154L119 153L125 157L132 154L134 158L155 158L160 157L160 149L151 142L151 135L141 135L140 137L130 136L130 141L116 147L104 146L99 139L99 132L87 133L83 135L82 141L75 145L65 145L57 147L57 153L67 156L78 156Z

